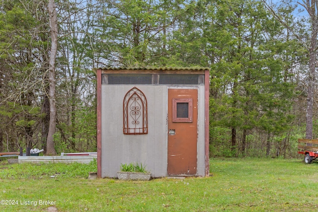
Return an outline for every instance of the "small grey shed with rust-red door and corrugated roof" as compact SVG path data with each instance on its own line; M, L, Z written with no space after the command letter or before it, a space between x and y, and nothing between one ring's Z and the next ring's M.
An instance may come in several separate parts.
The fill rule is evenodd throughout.
M209 175L209 68L94 71L98 177L131 162L155 178Z

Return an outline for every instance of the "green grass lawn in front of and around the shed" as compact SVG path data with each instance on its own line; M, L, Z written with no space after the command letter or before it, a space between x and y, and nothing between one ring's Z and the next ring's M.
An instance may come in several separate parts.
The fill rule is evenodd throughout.
M184 180L88 180L88 171L96 171L95 162L2 162L0 200L17 204L0 205L0 211L40 212L51 204L59 212L318 211L318 162L223 158L210 160L210 170L212 177Z

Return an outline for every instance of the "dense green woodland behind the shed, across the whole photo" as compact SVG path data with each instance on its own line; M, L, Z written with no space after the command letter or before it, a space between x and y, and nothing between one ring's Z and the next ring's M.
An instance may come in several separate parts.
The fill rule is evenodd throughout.
M96 151L93 68L197 66L211 68L211 157L296 157L297 140L318 134L316 8L286 0L1 0L0 152L47 150L50 139L58 153Z

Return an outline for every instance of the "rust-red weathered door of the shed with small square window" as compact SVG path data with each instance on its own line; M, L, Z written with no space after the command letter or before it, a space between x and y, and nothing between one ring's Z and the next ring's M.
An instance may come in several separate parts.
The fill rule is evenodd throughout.
M167 175L197 174L198 90L168 89Z

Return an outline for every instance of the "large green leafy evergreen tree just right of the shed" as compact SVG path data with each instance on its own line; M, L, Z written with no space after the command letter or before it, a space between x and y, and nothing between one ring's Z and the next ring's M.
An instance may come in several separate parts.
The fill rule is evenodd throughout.
M290 121L282 113L290 109L293 90L281 71L282 28L259 1L217 1L211 16L212 29L217 29L209 33L211 84L219 92L213 99L218 108L213 109L217 112L211 123L230 128L232 150L244 154L249 131L278 134L282 130L274 123L288 126ZM269 125L263 118L271 120Z

